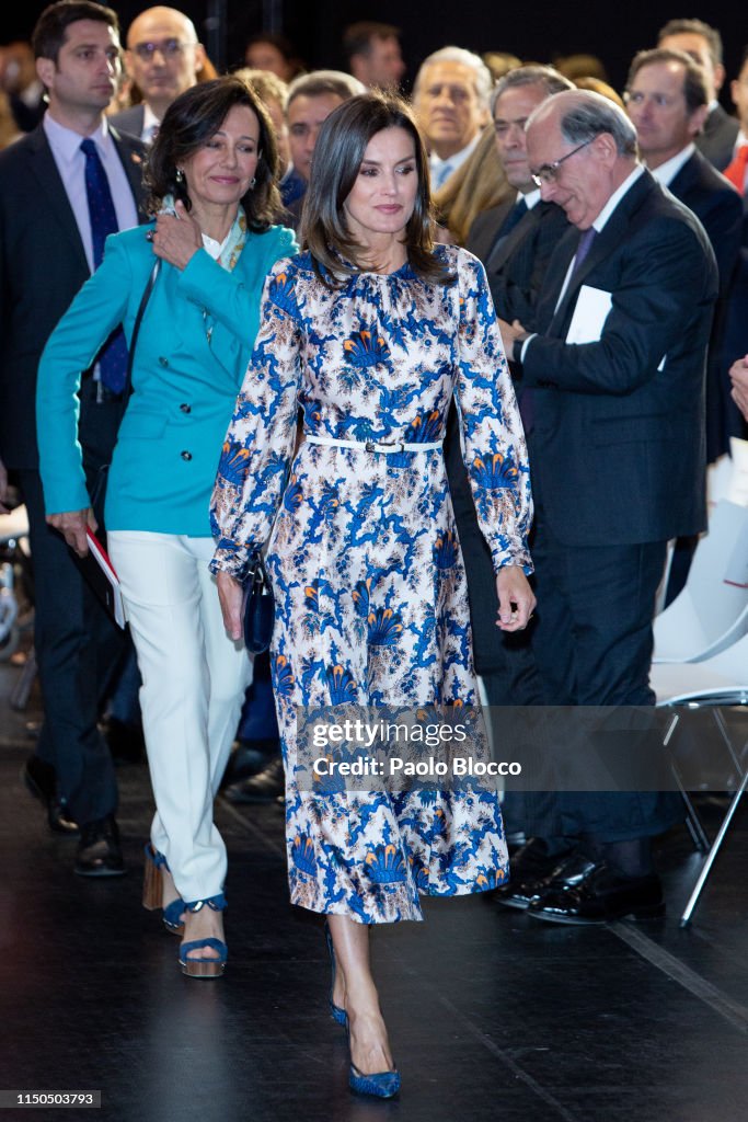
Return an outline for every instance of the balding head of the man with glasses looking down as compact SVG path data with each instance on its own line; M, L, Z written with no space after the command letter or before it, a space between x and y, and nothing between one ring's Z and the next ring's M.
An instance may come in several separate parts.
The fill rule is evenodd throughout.
M542 197L588 230L637 165L636 131L626 113L598 93L556 93L527 122L527 155Z

